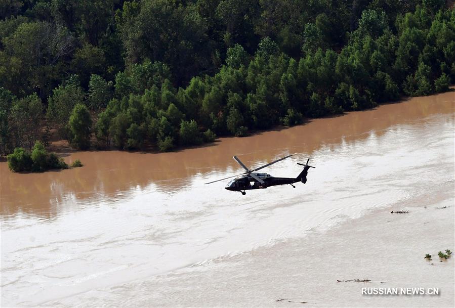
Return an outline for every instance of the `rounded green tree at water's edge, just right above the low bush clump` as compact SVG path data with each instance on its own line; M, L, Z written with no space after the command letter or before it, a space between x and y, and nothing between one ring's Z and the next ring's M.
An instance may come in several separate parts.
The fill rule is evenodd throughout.
M76 104L68 122L71 146L81 150L89 148L91 126L92 118L87 106L80 103Z

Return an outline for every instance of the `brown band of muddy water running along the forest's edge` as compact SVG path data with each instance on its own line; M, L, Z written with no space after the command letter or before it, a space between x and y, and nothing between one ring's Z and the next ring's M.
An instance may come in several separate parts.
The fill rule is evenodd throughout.
M312 119L289 128L277 126L255 131L249 137L220 138L201 147L169 153L115 150L59 153L68 164L75 159L84 164L68 170L16 174L3 161L0 214L26 212L53 216L58 214L58 205L68 200L91 204L97 200L114 200L133 189L163 192L187 189L194 179L202 182L223 177L227 171L241 171L232 160L233 155L249 166L286 154L311 157L321 147L334 149L342 143L365 140L371 134L380 137L397 125L422 126L428 116L453 112L453 92L448 92L404 99L343 116Z

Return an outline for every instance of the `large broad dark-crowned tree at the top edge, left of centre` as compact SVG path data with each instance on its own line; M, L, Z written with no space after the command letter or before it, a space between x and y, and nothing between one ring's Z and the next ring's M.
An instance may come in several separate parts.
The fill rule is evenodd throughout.
M209 68L206 24L195 5L167 0L126 2L116 13L116 23L127 63L146 58L169 64L177 84L187 82L194 72ZM163 48L166 46L166 48Z

